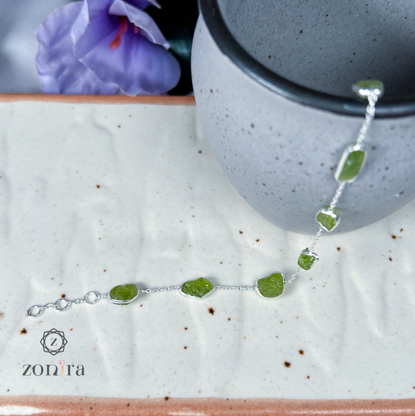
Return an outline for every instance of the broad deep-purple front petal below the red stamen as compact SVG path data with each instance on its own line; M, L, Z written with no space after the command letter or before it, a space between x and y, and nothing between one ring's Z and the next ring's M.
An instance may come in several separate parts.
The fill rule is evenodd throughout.
M163 47L134 34L131 28L117 49L110 49L112 40L113 34L108 35L81 58L104 82L118 84L131 96L160 94L179 82L179 63Z

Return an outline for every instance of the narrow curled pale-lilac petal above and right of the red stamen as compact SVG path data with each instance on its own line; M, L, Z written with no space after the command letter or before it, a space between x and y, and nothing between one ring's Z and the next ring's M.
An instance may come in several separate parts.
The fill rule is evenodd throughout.
M110 7L109 13L117 16L127 16L131 23L142 29L141 35L152 43L162 45L165 49L169 49L170 45L163 36L156 22L149 14L138 9L122 0L115 0Z

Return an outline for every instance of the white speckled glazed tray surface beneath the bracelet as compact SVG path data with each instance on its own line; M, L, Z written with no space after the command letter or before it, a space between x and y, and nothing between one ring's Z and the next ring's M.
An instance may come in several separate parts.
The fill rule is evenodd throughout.
M277 300L173 291L29 319L31 305L122 283L288 275L312 238L248 206L194 107L2 103L0 117L0 395L415 396L414 202L324 235L320 262ZM40 344L52 328L68 340L54 357ZM62 359L85 375L22 375Z

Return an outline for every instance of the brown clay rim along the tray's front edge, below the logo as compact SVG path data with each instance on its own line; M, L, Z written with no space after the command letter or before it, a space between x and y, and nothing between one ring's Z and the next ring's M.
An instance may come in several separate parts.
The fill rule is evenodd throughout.
M25 409L19 409L17 406L25 406ZM116 399L79 396L0 396L0 414L2 408L7 409L8 415L29 414L27 406L32 408L30 414L42 416L401 416L414 414L415 399L177 399L169 396L160 399ZM22 413L23 410L26 413Z

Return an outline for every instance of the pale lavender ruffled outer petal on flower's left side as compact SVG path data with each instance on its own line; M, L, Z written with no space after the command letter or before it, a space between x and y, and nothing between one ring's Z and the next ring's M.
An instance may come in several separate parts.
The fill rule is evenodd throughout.
M37 30L37 72L45 93L115 94L118 86L101 81L74 55L71 27L83 3L70 3L49 15Z

